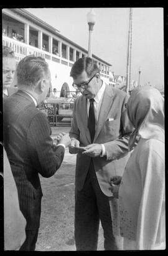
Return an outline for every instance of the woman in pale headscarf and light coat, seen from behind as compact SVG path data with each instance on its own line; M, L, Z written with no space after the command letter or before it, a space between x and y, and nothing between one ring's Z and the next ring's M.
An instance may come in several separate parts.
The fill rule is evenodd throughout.
M132 91L126 106L135 127L123 177L111 177L119 198L119 232L124 250L166 249L164 98L150 86ZM119 190L119 192L118 192Z

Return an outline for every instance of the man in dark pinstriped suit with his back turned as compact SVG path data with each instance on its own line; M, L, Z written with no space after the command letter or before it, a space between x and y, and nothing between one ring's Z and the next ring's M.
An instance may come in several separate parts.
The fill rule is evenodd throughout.
M68 134L51 139L47 116L36 106L50 86L50 71L41 57L27 56L17 67L18 91L4 102L4 145L16 181L19 204L26 218L26 241L20 250L35 250L40 225L42 189L39 174L51 177L62 164Z

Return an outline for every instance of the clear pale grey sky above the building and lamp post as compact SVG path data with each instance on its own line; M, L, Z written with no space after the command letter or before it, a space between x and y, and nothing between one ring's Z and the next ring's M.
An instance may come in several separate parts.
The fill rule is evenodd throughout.
M26 8L60 33L88 49L86 14L90 8ZM93 54L109 62L114 75L126 76L129 8L94 8ZM164 18L162 7L134 7L131 79L164 85Z

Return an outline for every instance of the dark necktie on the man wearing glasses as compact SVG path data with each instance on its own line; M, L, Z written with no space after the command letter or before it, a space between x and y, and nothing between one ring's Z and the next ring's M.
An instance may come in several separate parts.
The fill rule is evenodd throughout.
M88 129L90 131L91 143L95 137L95 111L94 111L94 99L90 99L90 108L88 116Z

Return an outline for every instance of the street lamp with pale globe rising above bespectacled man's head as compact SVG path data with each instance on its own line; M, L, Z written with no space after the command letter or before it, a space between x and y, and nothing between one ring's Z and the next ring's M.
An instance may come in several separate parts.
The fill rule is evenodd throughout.
M88 57L92 56L92 33L93 33L93 27L95 25L95 17L96 17L96 14L93 11L93 8L91 8L90 12L88 12L87 14L87 21L88 21L88 27L89 27Z

